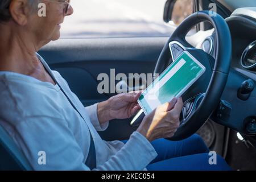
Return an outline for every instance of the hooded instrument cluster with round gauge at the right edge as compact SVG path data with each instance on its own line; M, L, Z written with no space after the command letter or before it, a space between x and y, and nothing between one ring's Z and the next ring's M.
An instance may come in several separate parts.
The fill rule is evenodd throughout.
M226 22L232 35L232 68L256 81L256 7L238 9Z

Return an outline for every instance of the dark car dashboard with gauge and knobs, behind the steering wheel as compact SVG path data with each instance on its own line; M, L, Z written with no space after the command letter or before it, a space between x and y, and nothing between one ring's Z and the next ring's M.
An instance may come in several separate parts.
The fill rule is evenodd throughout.
M225 20L232 36L232 62L211 119L240 132L256 146L256 7L237 9ZM216 57L214 46L213 31L200 48Z

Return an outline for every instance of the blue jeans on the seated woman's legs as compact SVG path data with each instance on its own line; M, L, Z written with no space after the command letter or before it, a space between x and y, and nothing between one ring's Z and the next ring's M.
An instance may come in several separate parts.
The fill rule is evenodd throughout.
M126 143L127 140L123 142ZM148 164L148 171L231 170L220 155L216 156L217 164L209 164L209 149L196 134L175 142L157 139L151 144L158 156Z

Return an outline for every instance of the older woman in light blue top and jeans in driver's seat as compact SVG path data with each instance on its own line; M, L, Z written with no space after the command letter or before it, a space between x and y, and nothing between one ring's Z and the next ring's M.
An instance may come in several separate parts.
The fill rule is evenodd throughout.
M38 15L39 2L46 5L45 17ZM49 69L36 52L60 38L61 23L72 13L64 0L0 1L0 124L33 169L229 169L219 157L217 165L209 165L208 148L198 135L180 142L161 139L179 127L181 98L146 115L129 140L102 140L96 130L134 115L140 93L84 107L64 78ZM46 165L38 162L40 151Z

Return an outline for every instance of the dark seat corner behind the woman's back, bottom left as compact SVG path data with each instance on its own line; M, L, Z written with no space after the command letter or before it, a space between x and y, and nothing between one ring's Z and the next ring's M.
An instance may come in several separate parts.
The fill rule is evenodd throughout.
M0 125L0 170L2 171L31 171L28 160L16 146L10 135Z

